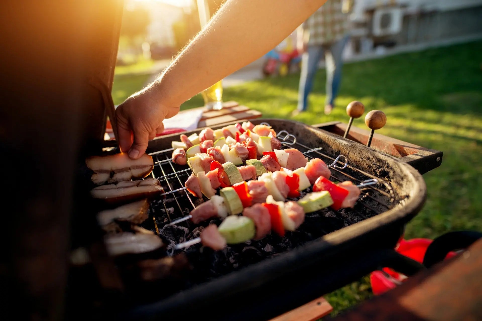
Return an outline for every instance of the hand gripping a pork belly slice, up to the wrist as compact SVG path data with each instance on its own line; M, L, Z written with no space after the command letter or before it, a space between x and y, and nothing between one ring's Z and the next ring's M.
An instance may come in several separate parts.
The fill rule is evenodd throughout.
M179 112L179 105L168 102L154 86L141 90L116 109L119 147L137 159L147 149L149 140L164 130L162 120Z

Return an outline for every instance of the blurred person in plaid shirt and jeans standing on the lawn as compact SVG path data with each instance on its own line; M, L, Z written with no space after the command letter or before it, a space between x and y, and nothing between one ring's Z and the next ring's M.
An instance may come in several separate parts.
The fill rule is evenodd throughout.
M298 90L298 108L293 116L308 108L308 96L318 70L322 54L326 64L325 114L335 106L341 82L343 50L348 42L347 0L327 0L298 28L298 51L303 52ZM345 8L343 8L345 6Z

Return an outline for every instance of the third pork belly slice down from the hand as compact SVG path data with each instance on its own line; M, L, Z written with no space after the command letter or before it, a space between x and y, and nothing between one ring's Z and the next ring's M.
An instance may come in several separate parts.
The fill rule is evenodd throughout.
M99 222L104 231L118 231L119 226L115 222L116 220L140 224L147 219L148 209L149 202L145 198L114 209L101 211L97 214L97 222Z

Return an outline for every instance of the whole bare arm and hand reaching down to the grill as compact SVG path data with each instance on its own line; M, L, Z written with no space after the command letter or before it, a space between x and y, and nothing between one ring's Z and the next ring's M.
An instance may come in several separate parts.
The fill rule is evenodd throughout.
M227 0L157 80L117 108L121 150L140 157L181 103L274 48L325 1Z

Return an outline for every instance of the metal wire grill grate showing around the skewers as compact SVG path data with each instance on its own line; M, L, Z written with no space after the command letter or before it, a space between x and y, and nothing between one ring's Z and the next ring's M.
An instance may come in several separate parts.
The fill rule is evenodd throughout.
M301 152L306 152L311 148L317 146L306 146L299 141L293 135L289 135L286 131L281 131L278 134L278 138L283 143L282 148L295 147ZM161 150L151 153L154 158L154 169L152 171L152 177L160 180L162 187L168 193L167 195L156 199L151 203L152 227L159 234L159 230L162 226L170 223L176 218L181 218L189 215L189 212L201 204L202 201L195 199L190 193L183 189L184 182L191 175L191 169L186 166L179 166L174 164L171 159L172 149ZM315 151L306 154L309 158L321 158L325 163L330 164L335 161L335 157L322 153L321 151ZM341 161L338 161L342 164ZM378 183L371 186L365 186L361 189L361 195L356 202L354 208L344 208L340 211L333 211L331 209L324 209L319 211L322 216L335 217L342 219L343 226L348 226L363 219L375 216L386 210L390 209L397 203L397 198L391 188L390 184L379 177L375 177L371 174L363 172L360 169L348 165L345 169L330 168L333 181L351 180L353 183L360 183L362 180L377 179ZM309 191L309 190L308 190ZM303 194L300 196L302 197ZM207 200L204 198L204 201ZM297 199L289 199L297 200ZM189 221L181 222L179 225L187 227L192 231L196 225ZM148 228L151 228L150 226ZM328 234L338 228L321 229L323 233Z

